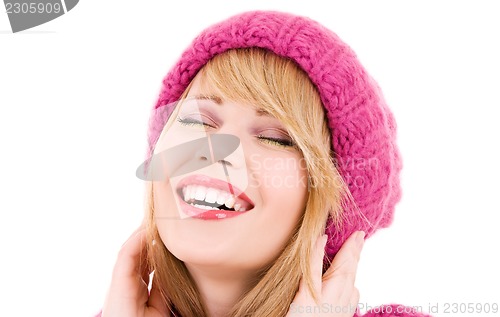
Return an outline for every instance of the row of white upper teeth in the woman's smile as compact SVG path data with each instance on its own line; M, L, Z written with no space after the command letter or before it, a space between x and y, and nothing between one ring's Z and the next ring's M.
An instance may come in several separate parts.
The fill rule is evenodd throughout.
M236 199L232 194L223 190L201 185L188 185L182 188L182 194L186 202L196 199L211 204L217 203L220 206L226 205L227 208L234 208L236 211L245 211L241 204L235 204Z

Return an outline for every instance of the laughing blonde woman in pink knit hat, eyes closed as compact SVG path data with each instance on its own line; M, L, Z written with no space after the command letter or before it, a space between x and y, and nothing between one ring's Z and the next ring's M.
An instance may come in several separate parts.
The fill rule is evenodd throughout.
M392 220L401 160L392 113L334 33L264 11L208 28L149 127L145 219L102 316L358 315L357 262Z

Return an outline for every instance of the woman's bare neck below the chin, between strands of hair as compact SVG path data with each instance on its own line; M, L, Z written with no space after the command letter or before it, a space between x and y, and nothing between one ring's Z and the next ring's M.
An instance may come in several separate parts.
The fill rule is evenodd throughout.
M209 317L226 316L241 296L252 287L253 274L226 268L186 263L207 308Z

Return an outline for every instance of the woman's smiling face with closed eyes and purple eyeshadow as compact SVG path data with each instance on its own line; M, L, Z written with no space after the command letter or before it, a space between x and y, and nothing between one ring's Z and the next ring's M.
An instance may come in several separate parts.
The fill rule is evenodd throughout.
M175 114L175 112L174 112ZM251 105L200 93L160 136L156 224L187 265L255 271L273 261L307 200L307 171L284 126Z

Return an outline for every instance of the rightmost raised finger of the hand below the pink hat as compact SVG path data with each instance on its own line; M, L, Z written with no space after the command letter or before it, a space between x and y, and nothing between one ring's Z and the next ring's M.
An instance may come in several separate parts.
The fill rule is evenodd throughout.
M333 258L330 268L323 277L323 291L330 295L350 294L354 288L356 272L365 233L353 233Z

